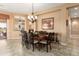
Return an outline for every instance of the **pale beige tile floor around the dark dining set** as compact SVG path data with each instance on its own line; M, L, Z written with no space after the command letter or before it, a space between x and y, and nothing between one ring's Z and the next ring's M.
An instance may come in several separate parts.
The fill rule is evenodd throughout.
M43 49L32 51L21 45L21 40L0 40L0 56L72 56L72 48L53 43L48 53ZM79 54L77 54L79 55Z

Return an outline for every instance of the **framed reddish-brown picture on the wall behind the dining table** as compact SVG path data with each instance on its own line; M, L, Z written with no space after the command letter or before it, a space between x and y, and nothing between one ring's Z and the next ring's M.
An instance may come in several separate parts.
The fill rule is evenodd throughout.
M42 19L42 29L44 30L54 29L54 17Z

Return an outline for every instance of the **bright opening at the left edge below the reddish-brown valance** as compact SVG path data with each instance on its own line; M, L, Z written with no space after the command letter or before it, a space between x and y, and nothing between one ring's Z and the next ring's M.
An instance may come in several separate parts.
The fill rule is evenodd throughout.
M0 40L7 39L7 20L0 19Z

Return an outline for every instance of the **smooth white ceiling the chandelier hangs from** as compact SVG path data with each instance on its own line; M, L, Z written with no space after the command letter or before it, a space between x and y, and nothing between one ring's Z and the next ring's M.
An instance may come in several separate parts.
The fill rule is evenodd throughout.
M64 3L34 3L34 12L44 11L63 4ZM29 14L32 12L32 3L0 3L0 10L12 13Z

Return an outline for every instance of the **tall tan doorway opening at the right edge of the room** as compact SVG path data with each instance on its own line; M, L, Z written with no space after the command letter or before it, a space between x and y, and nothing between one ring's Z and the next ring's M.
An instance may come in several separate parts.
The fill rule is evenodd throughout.
M79 6L71 7L69 11L70 21L70 36L79 38Z

